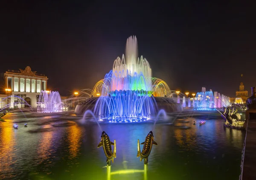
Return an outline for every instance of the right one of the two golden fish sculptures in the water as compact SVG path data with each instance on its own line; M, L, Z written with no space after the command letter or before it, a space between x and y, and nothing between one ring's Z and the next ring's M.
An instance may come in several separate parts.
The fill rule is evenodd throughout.
M137 158L140 157L140 161L144 159L144 164L148 164L148 156L150 155L153 144L157 145L154 141L153 132L150 131L145 138L145 141L141 144L144 144L142 152L140 152L140 140L138 139L138 153Z

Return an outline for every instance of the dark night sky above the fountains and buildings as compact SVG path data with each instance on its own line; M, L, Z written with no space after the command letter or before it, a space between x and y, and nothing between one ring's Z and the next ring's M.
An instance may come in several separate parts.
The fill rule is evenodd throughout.
M256 86L255 4L10 2L0 5L0 72L30 66L62 96L92 89L125 53L131 35L153 76L172 90L204 86L235 96L241 74L249 92Z

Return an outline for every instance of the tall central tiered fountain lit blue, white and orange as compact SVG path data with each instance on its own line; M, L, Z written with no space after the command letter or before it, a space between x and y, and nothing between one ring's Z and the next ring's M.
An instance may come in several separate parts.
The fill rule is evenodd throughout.
M137 38L129 37L125 56L114 61L113 70L93 87L92 98L79 104L75 112L83 113L85 107L94 103L91 109L95 115L99 115L100 121L146 121L156 114L157 102L167 98L171 90L166 82L152 77L150 65L143 56L137 57ZM172 107L175 109L173 111L182 110L180 104L177 106Z

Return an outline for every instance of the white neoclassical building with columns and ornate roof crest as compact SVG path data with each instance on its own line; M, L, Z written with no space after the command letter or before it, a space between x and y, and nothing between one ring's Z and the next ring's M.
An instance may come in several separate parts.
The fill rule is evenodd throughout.
M25 70L8 70L4 73L5 87L11 89L9 96L12 95L11 107L21 107L17 97L23 97L32 106L37 107L38 97L41 90L47 90L47 76L32 71L29 66ZM23 107L28 107L26 104Z

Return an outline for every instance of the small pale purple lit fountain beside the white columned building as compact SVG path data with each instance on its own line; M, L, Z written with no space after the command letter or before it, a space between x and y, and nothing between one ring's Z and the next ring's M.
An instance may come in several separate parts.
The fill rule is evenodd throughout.
M62 112L63 103L58 91L42 90L38 99L38 113L57 113Z

